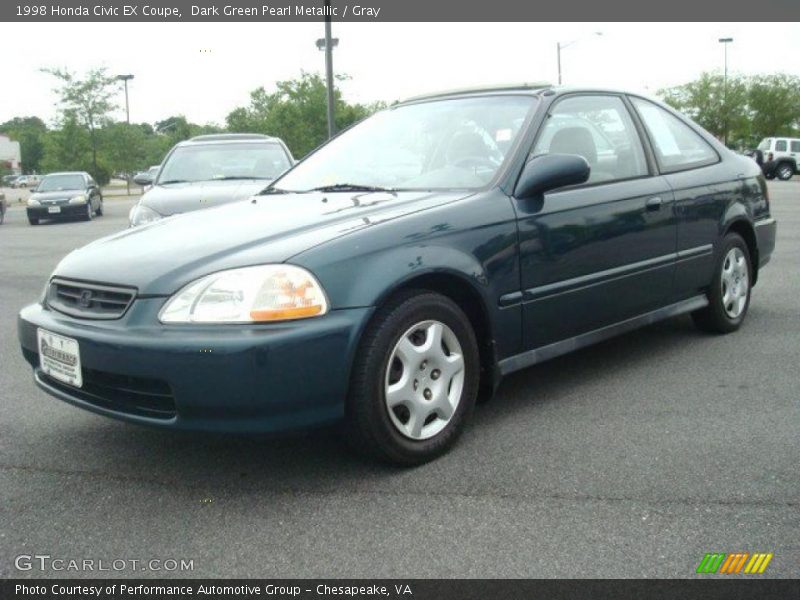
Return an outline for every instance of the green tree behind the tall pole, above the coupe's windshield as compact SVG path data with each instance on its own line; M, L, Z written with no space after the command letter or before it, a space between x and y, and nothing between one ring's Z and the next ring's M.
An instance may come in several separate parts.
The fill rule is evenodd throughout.
M339 75L337 81L347 79ZM336 129L340 131L369 116L382 104L349 104L341 91L334 89ZM300 77L279 81L276 90L263 87L250 93L250 104L237 107L225 119L228 130L238 133L263 133L281 138L296 157L302 157L328 137L327 91L324 79L316 73L301 72Z

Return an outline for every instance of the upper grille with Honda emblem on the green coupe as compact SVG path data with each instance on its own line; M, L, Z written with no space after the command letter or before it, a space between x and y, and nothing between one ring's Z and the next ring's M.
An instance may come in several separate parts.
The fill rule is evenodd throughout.
M82 319L119 319L135 297L134 288L53 279L47 291L47 305Z

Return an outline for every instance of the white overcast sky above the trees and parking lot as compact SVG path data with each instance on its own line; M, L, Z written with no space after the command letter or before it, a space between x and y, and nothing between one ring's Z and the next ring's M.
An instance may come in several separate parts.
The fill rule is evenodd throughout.
M602 36L593 32L601 31ZM322 23L0 23L0 122L55 116L52 76L42 67L133 73L131 121L184 114L223 124L251 90L324 70L314 41ZM733 37L734 74L800 75L797 23L334 23L334 70L349 101L392 101L471 85L557 80L654 94L702 71L721 70L720 37ZM124 108L121 92L119 105ZM118 112L123 118L122 110Z

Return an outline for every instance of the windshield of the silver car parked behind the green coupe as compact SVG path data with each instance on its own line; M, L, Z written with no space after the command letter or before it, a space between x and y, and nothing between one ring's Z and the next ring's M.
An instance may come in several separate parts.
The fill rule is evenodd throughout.
M280 144L241 143L182 146L169 155L157 183L215 179L275 179L289 168Z

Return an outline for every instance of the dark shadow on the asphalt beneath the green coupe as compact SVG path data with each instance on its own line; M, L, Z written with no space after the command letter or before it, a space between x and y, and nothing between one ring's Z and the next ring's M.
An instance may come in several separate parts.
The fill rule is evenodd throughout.
M699 337L704 334L688 317L674 318L513 374L491 401L476 408L472 432L462 444L470 444L475 430L490 437L507 421L535 419L549 403L570 402L573 386L581 381L623 366L644 367ZM62 409L76 410L59 405ZM28 440L40 457L48 457L45 470L224 495L359 491L376 481L409 481L417 471L351 452L333 428L243 436L149 429L84 412L68 416L56 421L53 430L37 429L35 439ZM459 461L458 453L459 446L419 469L445 469L449 461ZM467 450L473 454L474 449Z

